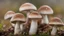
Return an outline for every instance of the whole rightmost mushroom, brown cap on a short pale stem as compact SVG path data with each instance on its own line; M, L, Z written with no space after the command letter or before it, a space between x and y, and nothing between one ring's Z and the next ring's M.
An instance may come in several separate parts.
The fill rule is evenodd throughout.
M57 32L57 27L63 26L63 22L61 21L60 18L54 17L54 18L51 18L49 25L53 26L52 31L51 31L51 35L55 36L56 32Z

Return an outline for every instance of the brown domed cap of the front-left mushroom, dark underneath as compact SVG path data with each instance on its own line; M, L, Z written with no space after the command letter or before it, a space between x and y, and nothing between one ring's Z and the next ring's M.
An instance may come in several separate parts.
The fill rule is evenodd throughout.
M26 21L26 18L23 14L21 13L16 13L10 20L11 23L16 23L16 22L22 22L24 23Z

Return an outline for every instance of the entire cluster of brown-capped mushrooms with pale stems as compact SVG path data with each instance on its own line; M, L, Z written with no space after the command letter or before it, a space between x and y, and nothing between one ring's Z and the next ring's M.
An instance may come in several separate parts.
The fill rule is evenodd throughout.
M8 11L4 16L4 19L10 20L11 25L14 27L14 35L22 34L27 26L30 26L28 28L29 35L37 34L39 29L44 30L47 26L49 28L52 27L51 35L55 36L57 27L63 26L60 18L54 17L51 20L48 18L48 15L53 14L52 8L48 5L43 5L37 10L32 3L24 3L20 6L19 12ZM27 16L25 17L22 13L25 13Z

